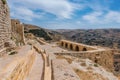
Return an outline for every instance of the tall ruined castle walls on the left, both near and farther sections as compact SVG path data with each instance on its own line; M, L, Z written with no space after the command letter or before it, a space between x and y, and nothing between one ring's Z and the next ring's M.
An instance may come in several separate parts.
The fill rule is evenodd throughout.
M5 0L0 0L0 52L14 40L17 45L24 45L24 26L19 20L10 19L10 10Z

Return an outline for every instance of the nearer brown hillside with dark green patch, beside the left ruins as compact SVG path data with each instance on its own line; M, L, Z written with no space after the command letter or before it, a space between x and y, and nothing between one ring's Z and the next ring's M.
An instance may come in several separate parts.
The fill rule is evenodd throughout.
M41 28L36 25L24 24L25 33L32 33L36 37L42 37L45 40L60 40L62 35L56 31Z

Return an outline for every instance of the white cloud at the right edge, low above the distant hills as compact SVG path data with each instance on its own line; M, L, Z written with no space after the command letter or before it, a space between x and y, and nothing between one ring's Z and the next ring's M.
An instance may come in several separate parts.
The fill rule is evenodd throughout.
M83 20L90 24L109 24L109 23L120 23L120 12L108 11L108 12L92 12L84 15Z

